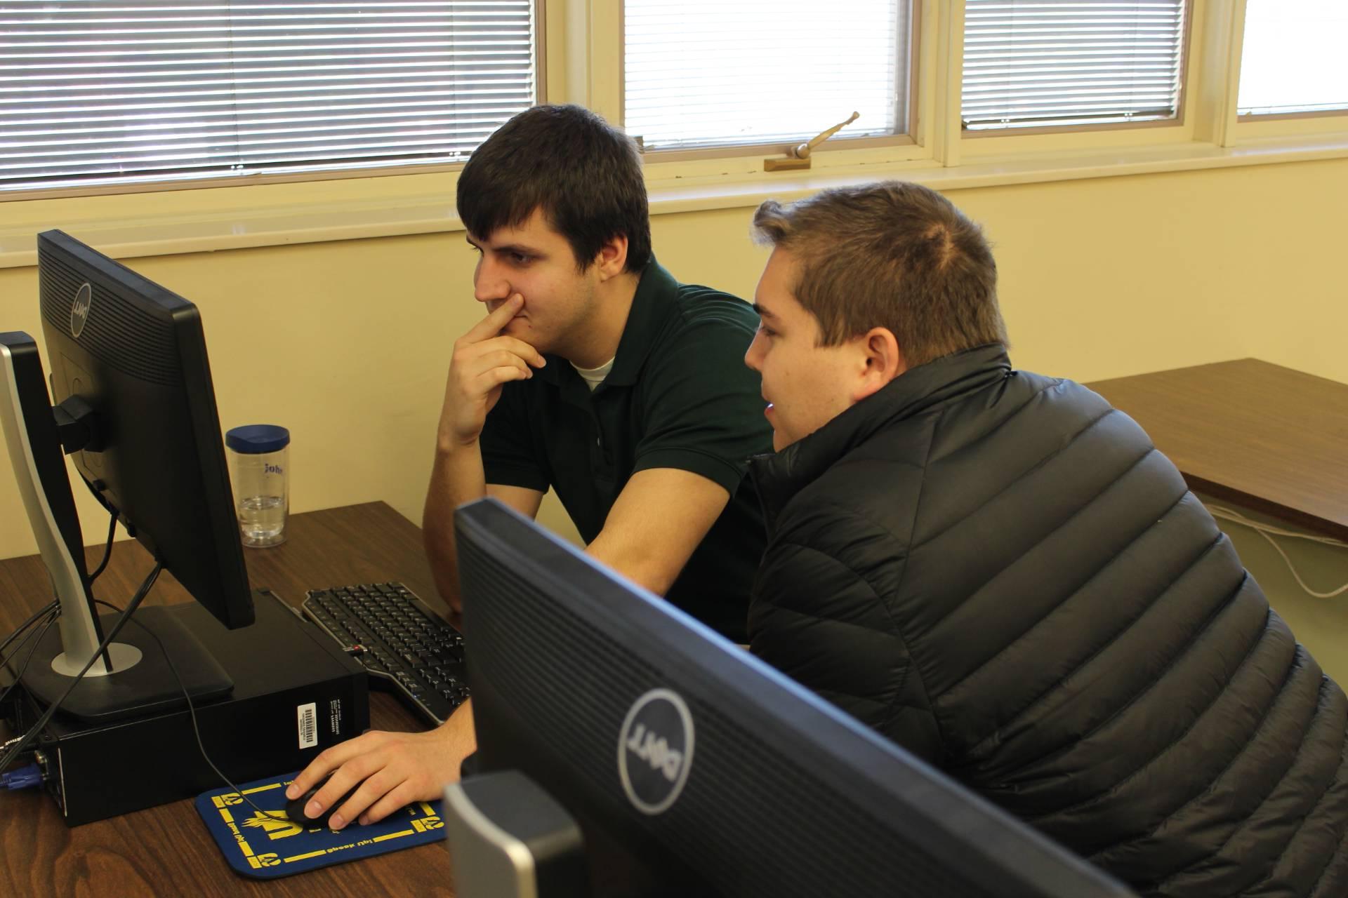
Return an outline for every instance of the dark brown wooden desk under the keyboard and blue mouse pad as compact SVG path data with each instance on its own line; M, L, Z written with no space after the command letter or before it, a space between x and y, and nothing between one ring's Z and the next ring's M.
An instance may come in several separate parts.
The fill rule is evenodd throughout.
M101 548L88 556L90 567L97 564ZM290 602L311 588L402 580L445 610L431 586L421 530L383 502L295 514L284 545L245 549L244 556L253 586L270 587ZM137 543L117 543L96 595L124 605L151 567ZM0 634L13 631L50 594L38 556L0 561ZM146 603L186 600L183 588L164 574ZM369 705L377 730L426 728L386 693L371 692ZM0 792L0 895L75 894L371 898L453 895L453 889L443 844L256 880L225 864L190 800L69 829L50 796L35 789Z

